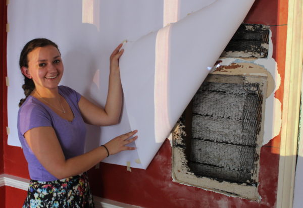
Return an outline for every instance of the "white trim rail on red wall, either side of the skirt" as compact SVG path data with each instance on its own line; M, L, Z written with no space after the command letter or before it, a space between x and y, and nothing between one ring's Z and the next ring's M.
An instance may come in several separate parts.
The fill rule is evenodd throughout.
M27 191L29 185L29 179L12 176L9 174L0 174L0 187L11 186L24 191ZM93 196L95 208L139 208L140 206L134 206L98 196Z

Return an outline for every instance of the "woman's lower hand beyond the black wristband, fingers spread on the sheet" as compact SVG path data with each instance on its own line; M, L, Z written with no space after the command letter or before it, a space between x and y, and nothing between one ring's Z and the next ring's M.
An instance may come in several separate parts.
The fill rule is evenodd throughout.
M109 154L112 155L120 151L136 149L136 147L130 147L126 145L135 141L138 138L138 136L134 136L133 138L129 139L137 132L138 132L137 130L134 130L126 134L122 134L120 136L113 138L111 141L107 142L106 144L104 144L108 148Z

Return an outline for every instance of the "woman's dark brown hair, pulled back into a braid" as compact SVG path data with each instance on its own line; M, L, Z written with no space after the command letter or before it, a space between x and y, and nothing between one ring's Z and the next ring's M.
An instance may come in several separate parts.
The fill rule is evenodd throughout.
M25 46L23 47L22 51L21 51L21 54L20 54L20 59L19 59L20 69L22 67L28 68L28 58L27 58L27 55L32 50L34 50L37 47L45 47L47 45L53 45L54 47L56 47L58 49L58 51L60 53L58 45L56 43L54 43L53 41L48 40L46 38L32 39L31 41L29 41L28 43L26 43ZM30 95L30 93L32 93L32 91L35 89L34 81L32 79L27 78L24 74L22 74L22 75L24 76L24 84L22 85L22 88L24 90L25 98L20 99L19 107L21 107L21 105L26 100L26 98L28 97L28 95Z

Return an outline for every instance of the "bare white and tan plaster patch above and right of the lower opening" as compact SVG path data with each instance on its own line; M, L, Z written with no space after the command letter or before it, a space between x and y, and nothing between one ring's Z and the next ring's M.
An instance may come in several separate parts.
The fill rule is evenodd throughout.
M269 56L272 56L272 42L270 41ZM281 130L282 112L281 102L275 98L275 91L280 87L281 78L278 73L277 63L271 58L267 59L234 59L221 58L221 67L215 74L222 75L252 75L267 76L267 98L265 106L263 145L276 137ZM279 148L276 152L279 153Z

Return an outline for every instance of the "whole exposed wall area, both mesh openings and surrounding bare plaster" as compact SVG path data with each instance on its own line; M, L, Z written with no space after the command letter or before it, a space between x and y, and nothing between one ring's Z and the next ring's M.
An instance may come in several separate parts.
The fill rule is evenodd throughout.
M281 129L281 103L274 97L280 75L269 28L241 27L218 60L221 66L176 125L172 176L186 185L260 201L260 149Z

